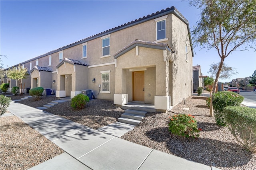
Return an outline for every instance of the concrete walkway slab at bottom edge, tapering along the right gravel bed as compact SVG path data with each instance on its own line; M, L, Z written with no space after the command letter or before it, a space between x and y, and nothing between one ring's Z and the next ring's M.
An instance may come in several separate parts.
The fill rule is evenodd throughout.
M210 166L153 150L139 170L211 170Z

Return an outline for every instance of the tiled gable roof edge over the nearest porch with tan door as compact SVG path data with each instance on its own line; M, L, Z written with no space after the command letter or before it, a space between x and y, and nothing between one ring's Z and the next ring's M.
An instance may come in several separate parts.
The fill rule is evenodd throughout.
M148 47L148 48L156 48L156 49L168 49L169 51L172 51L171 47L166 43L155 43L150 41L142 41L136 39L135 41L131 42L129 45L126 45L124 48L120 49L118 52L114 54L114 58L118 58L120 55L126 53L127 51L130 51L135 46L141 46L141 47Z

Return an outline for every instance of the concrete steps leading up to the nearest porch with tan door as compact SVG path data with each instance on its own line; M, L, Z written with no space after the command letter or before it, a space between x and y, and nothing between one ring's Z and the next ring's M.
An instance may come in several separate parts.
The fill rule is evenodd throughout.
M147 111L126 109L121 117L117 119L117 121L130 125L138 125L146 113Z

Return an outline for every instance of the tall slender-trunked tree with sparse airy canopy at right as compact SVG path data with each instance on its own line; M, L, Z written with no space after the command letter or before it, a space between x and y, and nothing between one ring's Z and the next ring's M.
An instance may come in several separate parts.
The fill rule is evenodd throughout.
M256 0L194 0L190 4L201 10L201 19L192 31L195 45L215 49L220 57L214 93L224 59L242 45L256 47Z

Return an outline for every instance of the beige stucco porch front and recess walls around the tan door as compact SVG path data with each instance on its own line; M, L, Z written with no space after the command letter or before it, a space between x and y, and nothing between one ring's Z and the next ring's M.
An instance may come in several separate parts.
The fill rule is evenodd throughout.
M138 49L138 56L136 56L136 48L134 48L118 57L115 94L128 94L128 101L132 101L132 73L129 73L129 70L146 68L144 71L144 102L153 104L154 96L168 96L166 62L164 62L163 55L165 50L146 47Z

